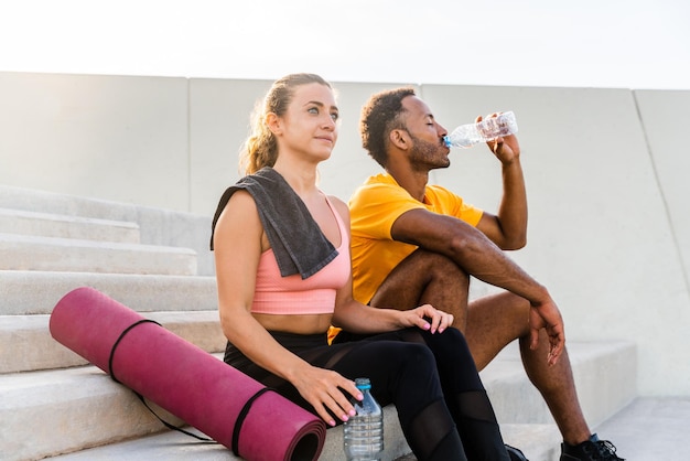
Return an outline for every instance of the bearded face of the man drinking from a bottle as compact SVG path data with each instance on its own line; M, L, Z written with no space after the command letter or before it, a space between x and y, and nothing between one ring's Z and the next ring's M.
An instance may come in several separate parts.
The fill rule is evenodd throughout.
M405 125L412 139L412 149L409 160L413 168L433 170L448 168L451 161L448 158L451 151L443 142L448 130L434 118L429 106L417 96L402 99L406 109Z

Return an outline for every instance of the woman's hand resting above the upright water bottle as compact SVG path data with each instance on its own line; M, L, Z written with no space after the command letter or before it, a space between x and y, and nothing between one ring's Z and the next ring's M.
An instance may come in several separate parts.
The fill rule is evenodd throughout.
M355 382L337 372L316 366L308 365L291 379L291 383L328 426L335 426L333 415L342 421L355 416L355 407L349 403L347 394L357 400L364 398Z

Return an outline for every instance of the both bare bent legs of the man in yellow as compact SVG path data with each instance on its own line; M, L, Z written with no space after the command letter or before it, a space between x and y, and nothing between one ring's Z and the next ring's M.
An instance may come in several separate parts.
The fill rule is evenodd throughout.
M568 351L548 366L549 341L540 333L539 345L529 349L529 303L509 292L467 302L468 276L450 259L417 250L390 275L370 301L374 307L413 309L429 303L454 315L454 326L467 339L477 369L483 369L506 345L519 339L522 365L541 393L563 437L570 444L587 440Z

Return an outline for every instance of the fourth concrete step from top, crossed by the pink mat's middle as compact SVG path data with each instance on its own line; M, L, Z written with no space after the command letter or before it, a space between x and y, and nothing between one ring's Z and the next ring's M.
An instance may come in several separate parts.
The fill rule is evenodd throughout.
M206 352L225 351L218 311L147 312L165 329ZM0 373L33 372L86 365L51 336L50 315L0 315Z

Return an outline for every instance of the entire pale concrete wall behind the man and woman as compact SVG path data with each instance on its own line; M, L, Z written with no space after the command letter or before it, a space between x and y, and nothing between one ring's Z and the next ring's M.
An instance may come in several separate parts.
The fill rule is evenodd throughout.
M359 144L368 96L334 83L342 126L322 187L347 199L378 172ZM0 184L211 215L266 81L0 73ZM690 395L690 92L418 86L454 126L514 110L530 203L511 254L547 285L571 340L638 344L643 395ZM457 150L432 180L495 211L498 162ZM478 292L487 290L477 283ZM602 371L605 373L605 371Z

